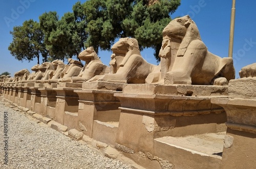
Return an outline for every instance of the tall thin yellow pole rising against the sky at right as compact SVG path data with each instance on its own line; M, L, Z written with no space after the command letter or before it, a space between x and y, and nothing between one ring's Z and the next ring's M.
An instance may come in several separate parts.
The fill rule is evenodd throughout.
M236 0L232 0L231 21L230 21L230 34L229 34L229 49L228 57L232 58L233 55L233 41L234 41L234 15L236 13Z

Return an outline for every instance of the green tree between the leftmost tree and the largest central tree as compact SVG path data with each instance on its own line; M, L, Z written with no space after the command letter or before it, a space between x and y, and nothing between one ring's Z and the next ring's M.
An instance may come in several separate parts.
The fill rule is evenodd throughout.
M73 10L73 13L65 13L60 20L56 12L44 13L39 17L40 26L46 34L45 43L51 60L64 60L72 56L78 58L81 49L85 48L88 34L85 31L83 6L78 2Z

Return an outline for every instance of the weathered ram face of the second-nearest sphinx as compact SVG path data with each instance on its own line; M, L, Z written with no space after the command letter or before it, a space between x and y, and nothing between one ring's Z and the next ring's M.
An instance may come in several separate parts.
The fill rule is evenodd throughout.
M135 38L120 38L112 47L113 53L126 54L129 50L138 49L139 44Z

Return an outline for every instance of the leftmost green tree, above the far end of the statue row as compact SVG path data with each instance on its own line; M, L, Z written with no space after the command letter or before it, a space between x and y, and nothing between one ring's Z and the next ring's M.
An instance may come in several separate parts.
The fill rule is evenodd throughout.
M32 19L26 20L23 26L14 27L10 34L13 36L13 41L8 50L15 59L32 61L37 58L39 64L41 56L43 62L47 61L48 50L44 43L45 35L38 22Z

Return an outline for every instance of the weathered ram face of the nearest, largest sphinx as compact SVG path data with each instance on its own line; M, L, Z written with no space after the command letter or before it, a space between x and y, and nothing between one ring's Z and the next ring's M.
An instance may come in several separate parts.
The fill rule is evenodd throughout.
M183 38L186 35L187 28L193 22L191 18L186 15L176 18L169 22L169 24L163 30L163 36Z

